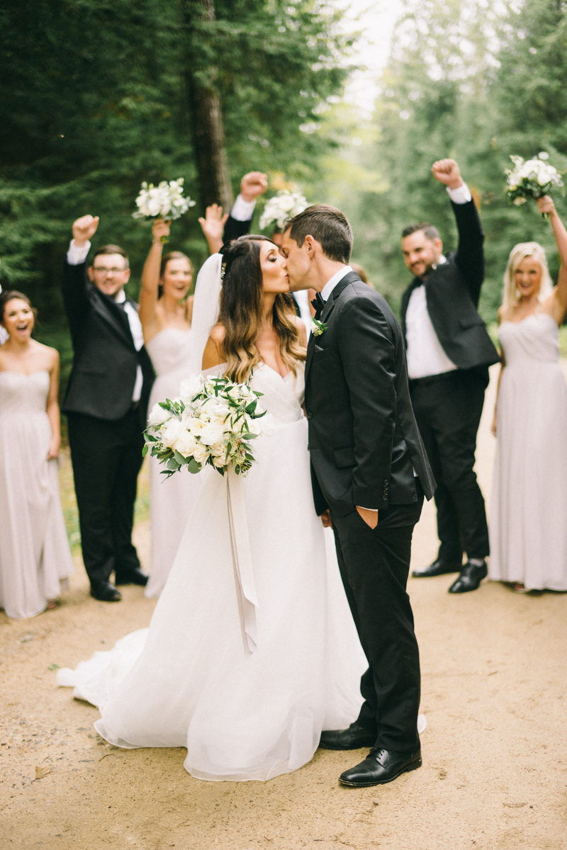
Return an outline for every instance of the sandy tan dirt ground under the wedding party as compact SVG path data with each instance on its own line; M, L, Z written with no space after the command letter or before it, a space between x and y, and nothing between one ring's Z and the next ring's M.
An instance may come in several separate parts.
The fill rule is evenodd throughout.
M491 384L479 436L490 495ZM414 564L436 553L434 510L417 527ZM136 530L147 562L149 530ZM451 576L411 580L422 652L423 767L390 785L338 785L362 753L317 751L294 774L207 783L184 750L121 751L94 733L99 716L55 684L54 665L146 626L154 602L88 597L81 569L60 609L28 621L0 614L0 847L567 847L567 595L521 596L486 583L449 596ZM48 767L35 779L37 767Z

